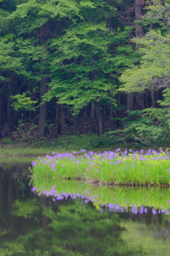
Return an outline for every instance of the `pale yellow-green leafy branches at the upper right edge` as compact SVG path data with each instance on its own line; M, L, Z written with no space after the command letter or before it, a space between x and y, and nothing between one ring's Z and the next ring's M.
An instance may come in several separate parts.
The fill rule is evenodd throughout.
M125 92L144 92L145 89L166 87L170 73L170 36L150 31L144 38L135 39L140 43L142 58L139 66L128 69L121 76Z

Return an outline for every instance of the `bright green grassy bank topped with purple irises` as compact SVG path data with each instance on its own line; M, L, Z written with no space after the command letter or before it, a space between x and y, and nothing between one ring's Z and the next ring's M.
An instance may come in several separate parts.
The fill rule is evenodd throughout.
M84 179L93 183L137 186L169 186L169 151L73 151L47 155L33 161L33 176Z

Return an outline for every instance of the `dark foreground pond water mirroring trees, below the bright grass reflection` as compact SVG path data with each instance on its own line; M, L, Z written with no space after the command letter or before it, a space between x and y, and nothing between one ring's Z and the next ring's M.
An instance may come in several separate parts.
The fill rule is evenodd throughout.
M114 205L99 210L81 196L38 196L29 185L27 164L1 165L0 175L0 256L170 255L168 209Z

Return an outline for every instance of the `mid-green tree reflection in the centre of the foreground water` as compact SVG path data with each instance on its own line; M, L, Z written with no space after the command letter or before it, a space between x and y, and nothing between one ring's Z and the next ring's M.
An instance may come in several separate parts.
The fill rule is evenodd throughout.
M120 227L118 215L97 213L95 208L75 201L69 206L60 206L60 212L46 209L52 223L52 244L62 245L67 250L87 255L105 255L108 247L120 251Z

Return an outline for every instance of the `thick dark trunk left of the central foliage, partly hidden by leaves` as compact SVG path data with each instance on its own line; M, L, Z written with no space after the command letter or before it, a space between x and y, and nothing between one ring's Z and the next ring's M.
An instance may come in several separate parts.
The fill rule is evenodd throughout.
M47 41L49 35L49 24L45 23L40 27L40 44L43 45ZM44 137L47 128L45 127L46 122L46 102L43 102L42 97L47 92L47 78L45 77L44 71L44 60L41 60L42 70L40 71L40 115L38 123L38 138Z

